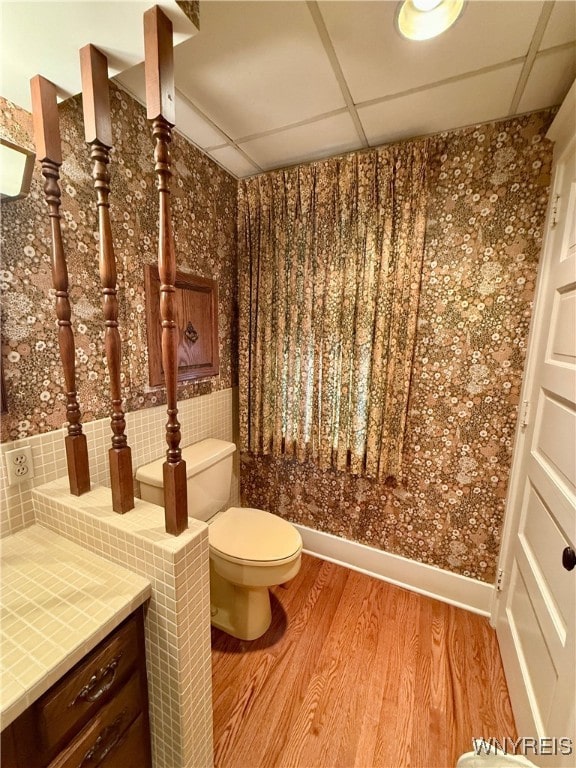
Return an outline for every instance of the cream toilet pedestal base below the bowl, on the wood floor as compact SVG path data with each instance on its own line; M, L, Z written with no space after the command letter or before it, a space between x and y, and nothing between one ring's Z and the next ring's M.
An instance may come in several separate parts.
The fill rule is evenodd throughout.
M245 587L222 578L210 559L210 621L239 640L256 640L272 622L268 587Z

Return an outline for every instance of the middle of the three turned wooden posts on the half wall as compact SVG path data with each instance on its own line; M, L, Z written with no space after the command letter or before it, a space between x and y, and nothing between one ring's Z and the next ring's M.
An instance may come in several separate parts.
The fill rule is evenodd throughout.
M124 513L134 509L134 480L132 477L132 451L125 434L126 420L122 409L120 368L122 342L118 331L118 299L116 295L116 258L112 228L110 226L110 148L112 147L112 123L110 119L110 95L108 91L108 60L93 45L80 50L82 71L82 106L84 133L90 145L93 161L92 178L98 206L98 231L100 233L99 267L104 311L104 348L110 374L112 401L112 447L108 451L110 481L112 484L112 508Z

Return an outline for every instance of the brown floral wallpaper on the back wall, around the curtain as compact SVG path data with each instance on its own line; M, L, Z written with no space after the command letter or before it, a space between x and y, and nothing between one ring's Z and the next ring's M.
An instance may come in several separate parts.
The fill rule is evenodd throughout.
M396 488L242 457L243 503L492 582L548 200L551 112L437 136Z

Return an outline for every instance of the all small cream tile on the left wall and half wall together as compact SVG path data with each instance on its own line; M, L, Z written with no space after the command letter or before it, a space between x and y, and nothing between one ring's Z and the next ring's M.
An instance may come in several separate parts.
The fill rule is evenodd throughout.
M216 437L236 441L237 391L226 389L178 404L182 446ZM126 414L134 471L166 449L166 406ZM164 513L140 499L124 515L112 511L107 453L110 421L84 425L92 490L76 497L66 477L64 430L4 443L30 445L35 476L7 487L2 461L3 536L38 523L86 549L145 576L152 585L146 613L146 661L154 768L212 766L210 584L208 529L191 520L169 536ZM4 458L4 457L3 457ZM229 504L239 504L235 456Z

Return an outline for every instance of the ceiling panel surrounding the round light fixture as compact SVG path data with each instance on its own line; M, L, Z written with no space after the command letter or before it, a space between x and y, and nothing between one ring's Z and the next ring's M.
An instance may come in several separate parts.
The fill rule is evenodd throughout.
M434 40L405 40L396 31L398 3L320 2L328 32L356 104L524 56L541 0L473 0Z

